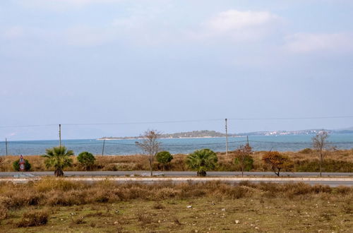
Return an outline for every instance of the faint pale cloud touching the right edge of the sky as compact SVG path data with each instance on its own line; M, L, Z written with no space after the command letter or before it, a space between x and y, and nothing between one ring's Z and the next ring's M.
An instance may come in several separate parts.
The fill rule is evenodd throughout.
M297 33L286 38L285 48L294 53L352 52L353 33Z

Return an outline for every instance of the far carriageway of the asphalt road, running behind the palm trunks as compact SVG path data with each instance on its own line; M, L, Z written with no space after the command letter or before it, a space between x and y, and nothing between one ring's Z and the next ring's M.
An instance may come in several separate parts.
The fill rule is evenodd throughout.
M35 177L53 176L54 172L24 172ZM196 177L196 172L154 172L164 177ZM20 172L0 172L0 177L13 177ZM121 177L150 174L149 171L97 171L97 172L64 172L66 177ZM208 177L241 176L241 172L207 172ZM244 172L246 177L277 177L273 172ZM281 172L280 177L318 177L318 172ZM323 172L323 177L352 177L353 172Z

